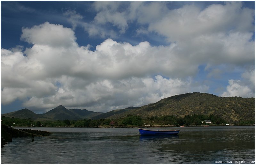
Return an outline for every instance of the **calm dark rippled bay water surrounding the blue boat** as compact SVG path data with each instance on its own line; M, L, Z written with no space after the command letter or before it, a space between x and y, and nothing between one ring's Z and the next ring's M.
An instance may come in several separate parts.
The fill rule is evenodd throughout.
M52 134L33 142L31 137L13 138L1 148L1 164L255 162L255 126L148 128L180 129L177 136L158 137L142 137L137 128L33 129Z

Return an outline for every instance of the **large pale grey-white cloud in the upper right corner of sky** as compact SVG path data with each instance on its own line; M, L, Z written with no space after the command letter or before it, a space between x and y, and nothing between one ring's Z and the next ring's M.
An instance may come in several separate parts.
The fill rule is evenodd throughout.
M186 41L220 32L253 32L254 16L255 11L242 8L242 2L212 4L202 11L195 5L185 5L150 22L148 29L167 36L171 42Z

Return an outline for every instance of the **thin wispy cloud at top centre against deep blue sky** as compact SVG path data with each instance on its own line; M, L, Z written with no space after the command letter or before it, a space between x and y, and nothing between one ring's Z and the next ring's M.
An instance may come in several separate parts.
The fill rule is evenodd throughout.
M111 2L96 1L92 4L97 12L94 19L87 23L75 10L67 10L63 15L68 18L73 29L78 25L84 27L89 36L98 36L101 38L116 37L119 34L113 31L112 27L123 34L129 28L129 23L138 22L139 24L149 24L155 22L160 17L168 13L166 3L164 2ZM109 27L109 24L112 25Z

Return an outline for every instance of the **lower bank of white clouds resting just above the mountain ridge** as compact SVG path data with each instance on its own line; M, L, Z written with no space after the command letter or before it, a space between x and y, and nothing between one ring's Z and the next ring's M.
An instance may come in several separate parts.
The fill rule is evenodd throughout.
M79 81L79 79L76 81ZM156 102L162 98L187 91L205 92L196 86L189 89L191 80L165 79L160 75L156 79L131 77L121 80L102 79L85 85L85 88L74 89L74 85L67 80L52 96L32 97L24 106L44 107L45 109L62 104L67 108L87 108L93 111L107 111L126 108L129 106L142 106ZM57 102L57 103L56 103ZM54 106L53 106L54 105Z

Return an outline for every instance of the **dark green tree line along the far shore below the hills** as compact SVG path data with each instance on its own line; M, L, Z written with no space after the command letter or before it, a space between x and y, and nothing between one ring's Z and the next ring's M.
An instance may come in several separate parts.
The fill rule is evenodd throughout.
M141 118L136 115L127 115L125 118L119 119L106 119L101 118L98 120L92 119L81 119L81 120L45 120L45 121L33 121L31 118L20 119L20 118L9 118L1 117L1 123L7 126L16 127L100 127L100 126L198 126L205 124L204 120L211 120L212 124L220 125L227 124L227 122L217 116L210 115L186 115L184 118L176 117L174 115L166 116L153 116L147 118ZM203 122L203 123L202 123ZM254 121L244 120L236 124L238 125L250 125L254 124Z

